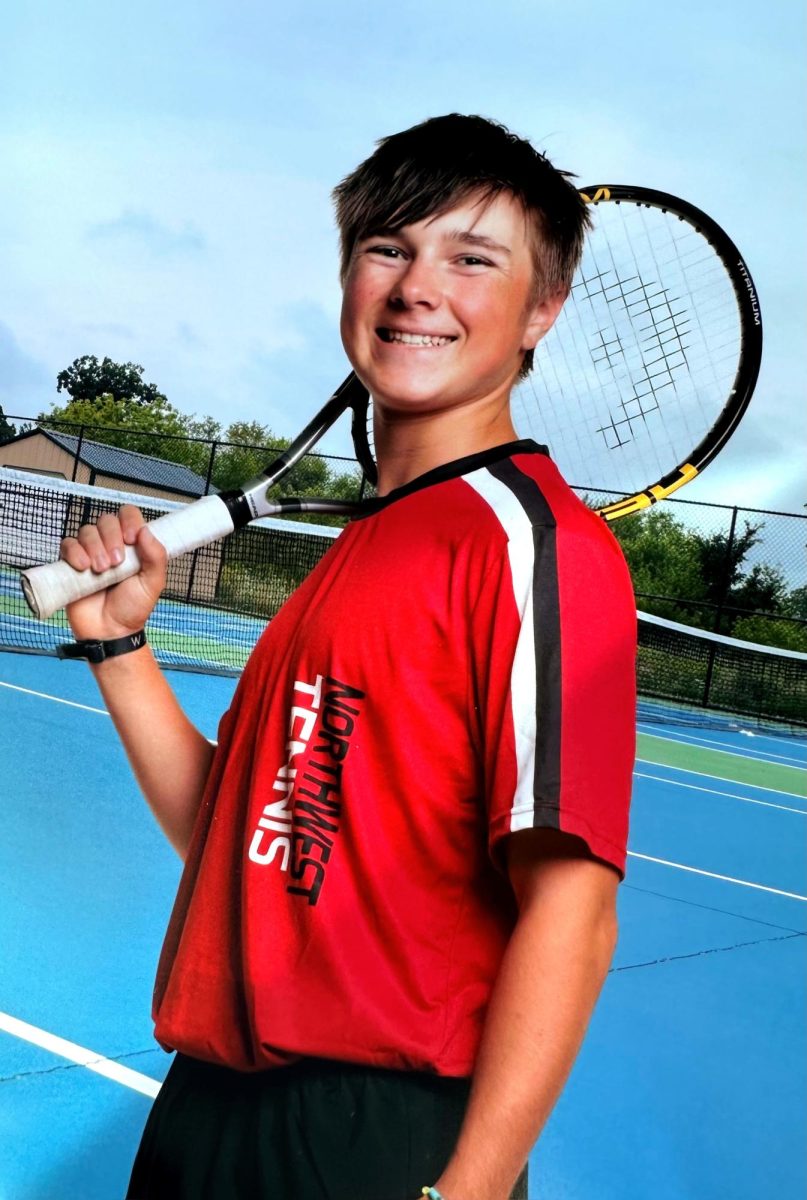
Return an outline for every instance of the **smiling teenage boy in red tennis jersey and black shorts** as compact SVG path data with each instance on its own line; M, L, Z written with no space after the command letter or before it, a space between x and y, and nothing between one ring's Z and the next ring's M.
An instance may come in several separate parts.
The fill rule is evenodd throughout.
M458 115L382 142L335 198L377 498L265 630L215 752L148 648L94 668L185 858L155 990L178 1055L133 1200L526 1195L614 952L633 596L509 415L585 206ZM64 556L103 570L124 542L143 569L71 607L78 638L156 602L136 510Z

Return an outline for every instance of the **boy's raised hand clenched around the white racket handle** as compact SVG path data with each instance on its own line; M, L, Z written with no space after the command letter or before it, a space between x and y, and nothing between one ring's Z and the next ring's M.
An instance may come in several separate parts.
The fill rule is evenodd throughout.
M67 605L65 612L77 641L109 641L143 629L166 584L168 556L139 509L125 504L115 515L103 514L85 524L77 538L65 538L61 558L77 571L96 574L121 562L124 546L134 546L141 571L104 592Z

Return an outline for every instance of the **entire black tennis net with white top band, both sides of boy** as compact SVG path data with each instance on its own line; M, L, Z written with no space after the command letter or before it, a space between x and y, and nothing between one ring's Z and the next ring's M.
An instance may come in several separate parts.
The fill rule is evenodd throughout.
M0 468L0 647L53 654L70 632L64 613L31 616L22 568L52 562L62 536L121 504L147 520L177 502L68 484ZM267 623L339 529L264 518L174 559L149 620L166 666L237 674ZM807 726L807 654L759 647L639 614L640 718L682 724Z

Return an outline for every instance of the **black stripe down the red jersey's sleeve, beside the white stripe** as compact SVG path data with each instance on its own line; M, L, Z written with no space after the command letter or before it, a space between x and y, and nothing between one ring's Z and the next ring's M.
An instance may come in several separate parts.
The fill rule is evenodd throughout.
M536 775L533 824L560 829L561 803L561 601L557 528L538 484L512 460L488 470L513 492L532 526L532 622L536 647Z

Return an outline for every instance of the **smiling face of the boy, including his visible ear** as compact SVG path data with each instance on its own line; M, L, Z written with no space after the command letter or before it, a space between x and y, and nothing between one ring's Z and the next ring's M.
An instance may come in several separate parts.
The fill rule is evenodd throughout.
M563 296L536 300L528 228L479 197L357 242L342 300L347 355L377 404L426 414L507 396Z

